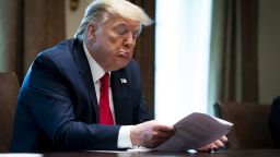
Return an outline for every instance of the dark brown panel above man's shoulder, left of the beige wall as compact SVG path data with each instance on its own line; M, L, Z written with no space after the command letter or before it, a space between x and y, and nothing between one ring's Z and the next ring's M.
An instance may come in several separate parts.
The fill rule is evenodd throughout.
M63 0L24 1L24 73L42 50L66 36Z

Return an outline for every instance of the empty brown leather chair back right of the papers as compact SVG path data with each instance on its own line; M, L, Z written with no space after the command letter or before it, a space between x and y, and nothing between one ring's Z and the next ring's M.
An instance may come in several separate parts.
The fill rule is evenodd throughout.
M234 124L228 134L229 148L272 148L267 121L269 108L269 105L249 102L217 102L217 116Z

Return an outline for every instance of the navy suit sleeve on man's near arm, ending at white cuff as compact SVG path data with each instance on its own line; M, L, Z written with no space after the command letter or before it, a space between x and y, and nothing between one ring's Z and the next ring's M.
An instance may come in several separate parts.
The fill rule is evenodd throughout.
M63 71L48 56L37 57L22 88L35 120L56 149L117 149L119 125L75 120Z

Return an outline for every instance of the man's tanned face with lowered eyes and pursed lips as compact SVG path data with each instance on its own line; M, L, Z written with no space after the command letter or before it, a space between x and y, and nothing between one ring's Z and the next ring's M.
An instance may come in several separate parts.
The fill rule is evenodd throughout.
M102 25L89 25L86 47L105 71L115 71L131 60L139 34L138 22L114 17Z

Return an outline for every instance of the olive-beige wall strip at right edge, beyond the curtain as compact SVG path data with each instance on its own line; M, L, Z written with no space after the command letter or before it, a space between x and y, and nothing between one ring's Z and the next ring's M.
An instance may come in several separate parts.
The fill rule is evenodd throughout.
M259 100L280 95L280 0L259 0Z

